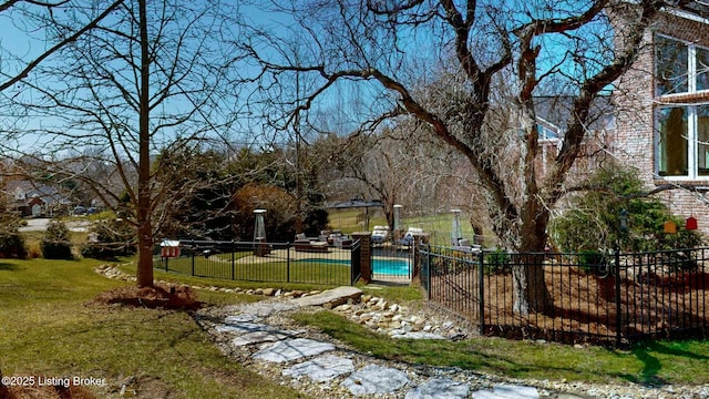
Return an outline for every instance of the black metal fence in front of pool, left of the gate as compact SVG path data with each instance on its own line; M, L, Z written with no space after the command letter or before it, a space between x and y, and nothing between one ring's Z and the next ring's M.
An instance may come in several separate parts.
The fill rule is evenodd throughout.
M179 256L163 256L169 254L169 249L162 250L165 253L155 254L155 267L199 277L351 285L361 275L359 241L339 247L291 243L182 241Z

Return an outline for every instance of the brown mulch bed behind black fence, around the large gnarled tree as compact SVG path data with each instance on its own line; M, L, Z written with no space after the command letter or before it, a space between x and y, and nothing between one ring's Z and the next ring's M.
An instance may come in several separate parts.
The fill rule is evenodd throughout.
M506 337L558 341L613 341L624 338L667 337L670 332L701 332L709 326L709 274L702 270L662 273L659 268L633 268L620 276L599 277L577 267L545 267L552 307L526 316L513 311L511 273L484 277L486 332ZM654 273L650 273L654 272ZM616 293L616 279L619 291ZM431 277L433 300L480 321L480 285L476 270ZM621 314L617 314L616 294ZM619 316L619 318L618 318ZM618 319L620 325L617 324Z

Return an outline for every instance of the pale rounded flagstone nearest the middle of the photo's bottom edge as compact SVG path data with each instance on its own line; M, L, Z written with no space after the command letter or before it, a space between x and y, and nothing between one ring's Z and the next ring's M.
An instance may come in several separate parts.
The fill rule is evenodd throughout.
M342 386L352 395L390 393L409 383L407 374L391 367L369 365L352 372Z

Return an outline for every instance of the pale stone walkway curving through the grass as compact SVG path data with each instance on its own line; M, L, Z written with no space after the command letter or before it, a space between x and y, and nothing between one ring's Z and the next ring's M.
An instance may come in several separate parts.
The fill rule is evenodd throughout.
M388 329L380 332L390 336L455 339L456 335L451 337L450 332L454 330L460 337L461 330L454 327L417 326L415 320L404 324L404 328L392 328L391 324L400 326L402 319L411 318L391 321L397 316L397 311L392 311L394 305L380 300L362 296L357 288L340 287L304 294L299 298L279 295L278 298L224 308L216 314L203 313L197 320L212 332L225 354L260 375L314 398L709 398L708 387L675 395L671 387L662 390L640 386L505 380L455 368L386 361L359 354L329 336L304 329L288 317L295 310L319 311L325 307L343 314L349 311L353 320L364 325L376 317L380 318L378 324L389 319ZM362 303L380 313L362 310L357 305ZM354 307L359 309L351 311ZM366 315L364 321L362 315ZM429 331L422 331L427 326ZM414 331L414 328L421 331ZM393 330L398 332L392 334Z

